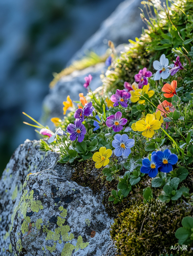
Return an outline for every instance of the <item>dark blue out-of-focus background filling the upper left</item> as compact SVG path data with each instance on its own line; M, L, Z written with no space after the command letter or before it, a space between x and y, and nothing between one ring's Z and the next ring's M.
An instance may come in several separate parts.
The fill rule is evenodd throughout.
M53 72L60 72L123 0L0 1L0 176L16 147L36 138Z

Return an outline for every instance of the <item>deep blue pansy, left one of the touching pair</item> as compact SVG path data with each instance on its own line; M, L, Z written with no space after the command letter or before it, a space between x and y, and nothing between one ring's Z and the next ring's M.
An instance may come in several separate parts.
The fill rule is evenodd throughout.
M151 156L151 161L145 158L142 161L141 173L148 174L149 177L154 178L158 174L158 156L154 151Z

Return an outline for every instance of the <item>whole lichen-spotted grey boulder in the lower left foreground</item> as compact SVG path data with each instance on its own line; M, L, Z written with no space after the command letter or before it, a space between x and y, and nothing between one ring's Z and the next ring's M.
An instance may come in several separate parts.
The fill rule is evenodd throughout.
M58 159L29 140L11 157L0 180L1 256L115 255L102 195L71 181Z

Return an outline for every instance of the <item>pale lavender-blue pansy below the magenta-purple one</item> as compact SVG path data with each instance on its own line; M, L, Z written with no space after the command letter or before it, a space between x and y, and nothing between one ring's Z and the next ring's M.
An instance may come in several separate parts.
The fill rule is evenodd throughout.
M115 147L115 156L120 157L128 157L130 155L130 148L135 144L134 139L129 139L126 134L120 135L116 134L114 140L112 141L113 147Z

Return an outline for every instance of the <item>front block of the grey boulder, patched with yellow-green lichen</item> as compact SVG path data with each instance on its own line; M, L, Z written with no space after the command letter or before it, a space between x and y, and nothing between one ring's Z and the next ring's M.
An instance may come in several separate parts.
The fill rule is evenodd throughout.
M100 196L54 170L27 176L11 231L17 255L106 255L112 219Z

